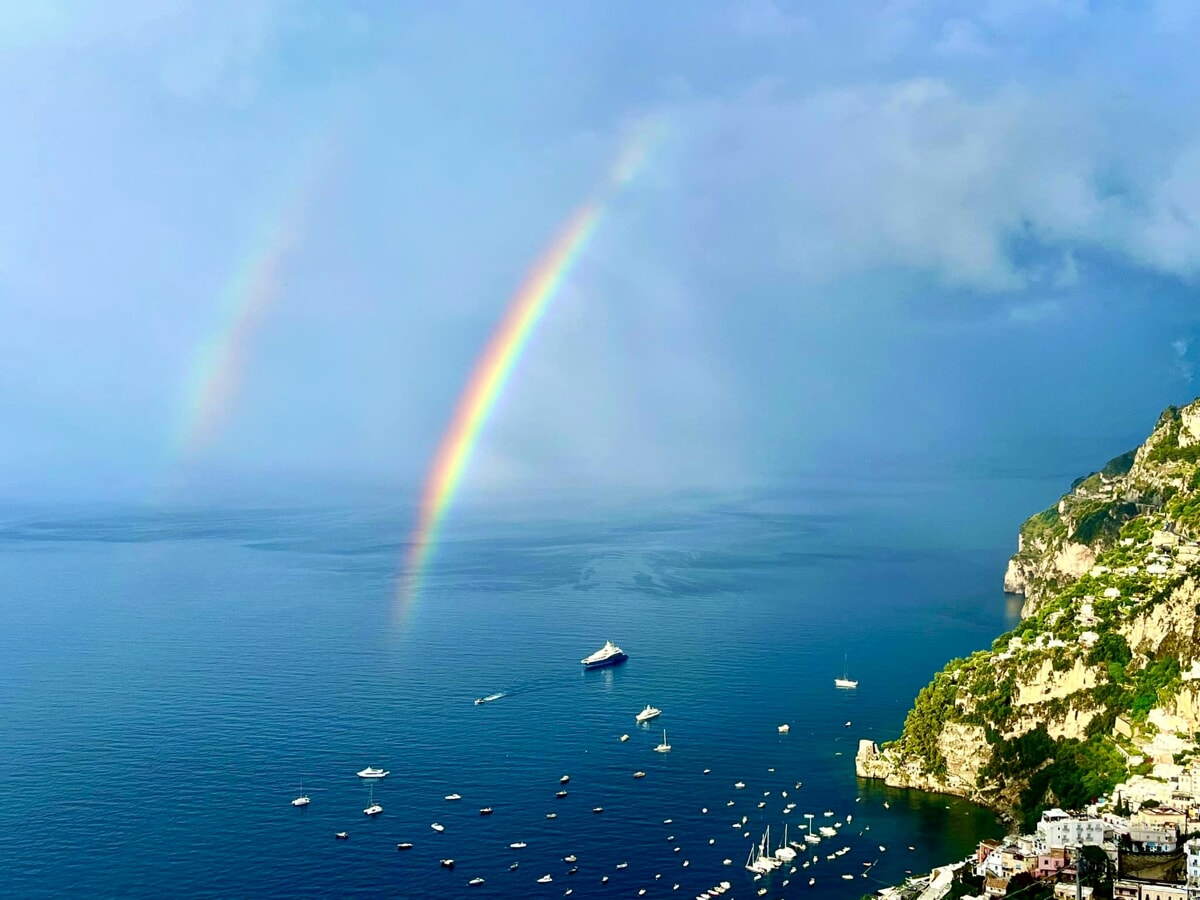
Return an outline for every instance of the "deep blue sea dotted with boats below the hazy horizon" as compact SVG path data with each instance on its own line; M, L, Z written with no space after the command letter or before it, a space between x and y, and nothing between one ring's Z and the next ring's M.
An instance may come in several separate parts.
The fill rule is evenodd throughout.
M998 832L859 782L853 755L1015 622L1004 559L1061 487L864 478L463 512L403 619L402 511L5 510L0 894L692 898L728 880L726 896L858 898ZM581 671L606 638L629 661ZM834 688L844 659L854 691ZM664 714L638 727L647 703ZM368 764L391 772L373 818ZM839 838L752 882L751 842L785 822L799 838L806 812Z

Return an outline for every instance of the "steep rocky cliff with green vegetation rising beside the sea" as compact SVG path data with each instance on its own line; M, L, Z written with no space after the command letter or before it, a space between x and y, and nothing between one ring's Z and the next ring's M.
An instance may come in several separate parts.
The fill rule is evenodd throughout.
M1028 815L1124 778L1118 715L1200 731L1196 536L1200 401L1021 527L1020 625L938 672L896 742L860 744L858 774Z

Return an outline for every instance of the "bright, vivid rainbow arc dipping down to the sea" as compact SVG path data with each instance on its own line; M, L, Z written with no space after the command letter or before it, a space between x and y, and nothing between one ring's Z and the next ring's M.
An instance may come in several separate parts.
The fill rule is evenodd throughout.
M538 323L587 248L608 202L642 168L660 131L661 122L656 118L642 121L634 130L600 188L590 200L571 214L526 276L475 362L470 378L458 396L450 425L438 444L421 492L416 527L408 542L398 590L401 619L420 594L421 578L437 545L438 530L446 510L462 484L484 427L516 364L529 346Z

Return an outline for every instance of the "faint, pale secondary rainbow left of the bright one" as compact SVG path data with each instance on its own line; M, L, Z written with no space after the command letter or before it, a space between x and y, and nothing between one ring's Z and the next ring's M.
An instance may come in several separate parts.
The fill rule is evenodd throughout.
M331 151L331 140L323 134L300 156L283 194L287 199L266 218L258 240L234 266L220 293L217 326L200 341L192 356L182 412L174 431L179 457L194 456L229 416L254 335L283 288L283 271L304 234Z

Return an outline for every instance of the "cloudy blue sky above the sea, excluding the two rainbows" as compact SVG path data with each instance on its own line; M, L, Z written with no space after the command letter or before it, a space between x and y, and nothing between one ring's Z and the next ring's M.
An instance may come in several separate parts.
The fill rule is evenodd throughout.
M652 114L468 494L1096 466L1200 394L1196 46L1168 0L0 0L0 494L403 496ZM185 452L222 292L323 138Z

